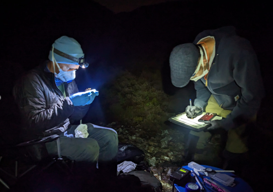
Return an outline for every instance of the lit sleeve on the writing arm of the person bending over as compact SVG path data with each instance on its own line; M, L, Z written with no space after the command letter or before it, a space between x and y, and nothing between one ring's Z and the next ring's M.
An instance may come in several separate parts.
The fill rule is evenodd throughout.
M201 107L202 110L204 111L204 106L208 102L211 96L211 92L201 80L198 80L197 82L195 82L195 89L196 89L196 99L195 99L194 105Z

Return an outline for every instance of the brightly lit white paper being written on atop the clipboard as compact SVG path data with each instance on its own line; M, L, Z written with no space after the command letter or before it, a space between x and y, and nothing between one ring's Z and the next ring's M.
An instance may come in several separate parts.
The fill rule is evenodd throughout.
M198 120L205 114L206 114L206 112L203 112L202 115L199 115L199 116L195 117L194 119L190 119L190 118L187 117L187 114L184 112L184 113L181 113L180 115L172 117L172 119L176 120L178 122L190 125L190 126L196 128L196 129L200 129L200 128L204 127L206 125L206 123L199 122ZM215 116L212 120L217 120L217 119L221 120L222 117Z

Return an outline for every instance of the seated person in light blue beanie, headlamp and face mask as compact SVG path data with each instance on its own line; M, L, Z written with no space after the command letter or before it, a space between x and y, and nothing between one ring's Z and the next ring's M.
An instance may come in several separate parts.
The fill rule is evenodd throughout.
M80 44L62 36L49 51L49 60L23 76L14 87L22 119L23 140L60 136L61 155L75 160L78 171L95 174L96 164L105 175L117 175L118 135L113 129L92 123L73 124L86 114L99 95L96 90L79 92L75 72L88 67ZM83 138L75 138L81 128ZM55 142L46 143L49 155L57 154Z

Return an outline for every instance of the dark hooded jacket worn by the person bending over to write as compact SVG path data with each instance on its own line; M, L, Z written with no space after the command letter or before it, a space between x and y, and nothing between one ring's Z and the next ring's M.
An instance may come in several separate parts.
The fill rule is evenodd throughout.
M204 109L211 95L219 106L232 112L221 121L224 129L234 129L238 119L247 121L258 111L264 96L259 63L250 42L236 35L235 28L222 27L198 34L194 44L207 36L215 38L215 57L205 78L195 82L194 104Z

